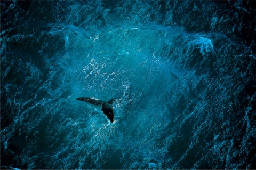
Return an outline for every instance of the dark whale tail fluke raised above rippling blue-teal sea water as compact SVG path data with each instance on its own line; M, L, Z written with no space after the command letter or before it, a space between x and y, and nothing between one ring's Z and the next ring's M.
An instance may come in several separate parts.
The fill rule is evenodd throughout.
M76 100L85 101L94 105L101 105L101 110L103 113L109 118L110 122L114 122L114 107L113 107L113 101L114 99L110 99L109 101L105 102L102 100L96 100L92 98L76 98Z

